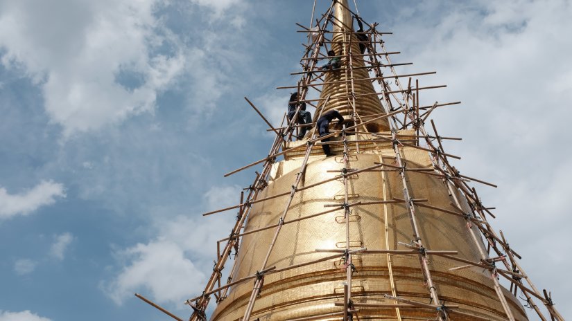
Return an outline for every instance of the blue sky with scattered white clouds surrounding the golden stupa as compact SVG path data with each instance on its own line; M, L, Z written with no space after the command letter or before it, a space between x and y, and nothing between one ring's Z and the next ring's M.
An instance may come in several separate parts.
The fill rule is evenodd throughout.
M323 11L327 0L318 0ZM313 1L0 0L0 321L184 318L295 84ZM572 318L572 3L362 0L539 288ZM254 168L258 169L258 168ZM254 170L252 169L252 170ZM532 317L532 320L535 318Z

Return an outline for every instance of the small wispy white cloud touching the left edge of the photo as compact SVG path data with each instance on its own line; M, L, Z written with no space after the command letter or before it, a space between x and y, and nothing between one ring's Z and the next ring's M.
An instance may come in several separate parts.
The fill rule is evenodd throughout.
M0 219L30 214L44 205L55 203L55 198L65 196L64 185L53 181L42 181L20 194L8 194L6 188L0 187Z

